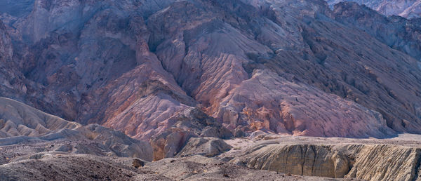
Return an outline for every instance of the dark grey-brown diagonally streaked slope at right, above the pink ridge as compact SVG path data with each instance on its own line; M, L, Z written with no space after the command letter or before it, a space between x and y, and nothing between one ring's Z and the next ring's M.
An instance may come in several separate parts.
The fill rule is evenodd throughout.
M283 7L281 3L275 5ZM277 11L276 8L274 11ZM282 20L287 20L288 24L297 18L309 22L300 24L300 38L305 42L302 54L285 48L279 49L272 58L254 56L254 59L286 78L298 79L380 112L394 130L417 133L420 125L418 105L412 100L417 98L417 90L411 90L419 87L418 75L415 75L418 72L417 61L375 41L369 34L355 29L349 31L326 15L315 13L312 20L294 12L284 15ZM396 68L401 70L395 72ZM400 86L396 86L398 84ZM390 105L396 106L392 108ZM407 120L417 121L411 121L414 124L410 126L406 124Z

